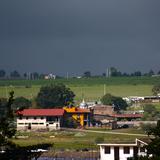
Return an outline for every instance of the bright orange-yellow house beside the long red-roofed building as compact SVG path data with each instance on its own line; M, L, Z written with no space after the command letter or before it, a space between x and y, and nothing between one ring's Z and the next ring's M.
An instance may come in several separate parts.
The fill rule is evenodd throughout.
M64 107L65 110L65 117L69 118L72 117L79 126L90 126L90 110L89 109L82 109L78 107Z

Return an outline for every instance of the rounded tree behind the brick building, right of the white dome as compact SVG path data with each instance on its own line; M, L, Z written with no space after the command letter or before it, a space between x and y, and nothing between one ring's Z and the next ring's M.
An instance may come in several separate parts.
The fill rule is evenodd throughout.
M121 97L112 96L108 93L101 98L101 102L104 105L113 105L115 111L125 110L128 106L126 101L124 101Z

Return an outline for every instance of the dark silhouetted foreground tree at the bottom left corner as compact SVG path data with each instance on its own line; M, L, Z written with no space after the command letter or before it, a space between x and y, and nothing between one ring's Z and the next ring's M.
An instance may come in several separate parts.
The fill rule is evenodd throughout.
M10 141L16 133L15 126L15 112L12 109L12 104L14 102L13 98L14 92L10 92L10 97L3 105L3 115L0 115L0 159L3 160L30 160L37 159L42 153L41 152L33 152L33 150L48 149L52 146L52 144L44 143L37 145L29 145L25 147L21 147L15 145ZM2 102L2 101L1 101ZM2 103L0 103L0 106ZM1 108L2 109L2 108ZM1 152L3 151L3 152Z

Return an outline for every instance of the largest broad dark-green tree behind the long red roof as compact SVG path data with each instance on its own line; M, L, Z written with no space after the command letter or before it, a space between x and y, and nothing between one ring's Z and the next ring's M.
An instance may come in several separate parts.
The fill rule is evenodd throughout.
M63 107L73 103L75 94L63 84L52 84L40 88L36 102L42 108Z

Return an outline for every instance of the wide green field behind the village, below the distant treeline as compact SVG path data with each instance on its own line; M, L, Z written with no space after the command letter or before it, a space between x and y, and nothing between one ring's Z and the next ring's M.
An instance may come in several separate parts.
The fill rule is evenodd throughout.
M99 100L104 93L115 96L146 96L152 95L152 87L160 82L160 77L112 77L82 78L57 80L0 80L0 97L7 97L9 91L15 97L24 96L29 99L36 97L41 86L63 83L75 93L76 101L84 97L87 101Z

